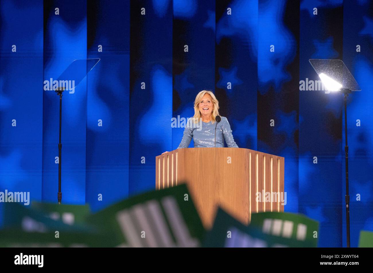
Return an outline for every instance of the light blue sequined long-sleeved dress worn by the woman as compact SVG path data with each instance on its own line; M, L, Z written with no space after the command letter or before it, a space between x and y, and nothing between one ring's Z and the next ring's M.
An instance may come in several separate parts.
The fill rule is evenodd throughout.
M216 147L224 147L225 139L228 147L238 148L236 142L233 139L231 126L229 125L228 119L223 116L221 118L222 120L217 123L216 127ZM194 148L214 147L215 125L216 122L212 123L211 121L193 124L192 118L190 118L184 129L184 135L178 149L188 148L192 138L194 142Z

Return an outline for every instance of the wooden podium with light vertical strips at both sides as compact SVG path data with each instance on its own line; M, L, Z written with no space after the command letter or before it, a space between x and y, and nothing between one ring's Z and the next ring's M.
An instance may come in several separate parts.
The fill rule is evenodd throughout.
M182 148L157 156L156 189L181 183L205 228L212 228L218 206L247 225L251 213L283 211L284 158L244 148Z

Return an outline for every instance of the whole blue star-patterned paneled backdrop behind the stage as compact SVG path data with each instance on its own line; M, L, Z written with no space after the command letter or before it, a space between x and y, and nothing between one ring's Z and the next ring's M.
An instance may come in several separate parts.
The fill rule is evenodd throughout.
M285 211L320 222L320 247L345 246L343 98L300 87L319 80L308 59L332 58L362 88L348 97L351 246L373 231L372 1L1 0L0 34L0 191L56 202L59 98L43 81L100 58L63 96L63 202L97 211L154 189L154 157L184 130L171 119L210 89L239 147L285 157Z

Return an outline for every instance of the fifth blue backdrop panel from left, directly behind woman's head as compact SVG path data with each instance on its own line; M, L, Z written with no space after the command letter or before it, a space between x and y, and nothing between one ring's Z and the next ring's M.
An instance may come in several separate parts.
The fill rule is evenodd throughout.
M173 118L192 117L197 93L204 89L214 89L214 13L215 1L213 0L173 1ZM183 132L182 124L172 129L170 150L179 146ZM191 141L189 147L193 146L193 141Z

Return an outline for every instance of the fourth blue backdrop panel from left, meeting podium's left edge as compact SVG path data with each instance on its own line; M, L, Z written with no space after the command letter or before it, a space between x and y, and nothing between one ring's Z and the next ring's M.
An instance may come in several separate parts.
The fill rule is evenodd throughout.
M172 150L172 1L131 1L130 17L129 195L134 195L154 189L154 158Z

